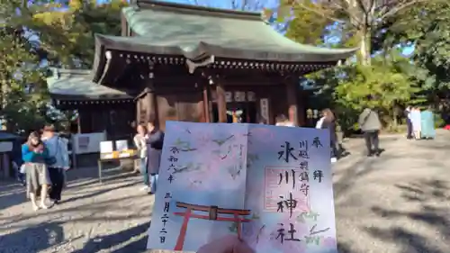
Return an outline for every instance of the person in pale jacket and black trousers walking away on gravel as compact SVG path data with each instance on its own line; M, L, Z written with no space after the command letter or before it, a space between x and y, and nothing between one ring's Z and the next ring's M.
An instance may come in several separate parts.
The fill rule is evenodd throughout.
M359 115L358 123L361 131L364 133L367 156L380 156L381 149L379 147L380 141L378 135L382 128L382 123L380 122L378 113L371 108L365 108L363 113Z

